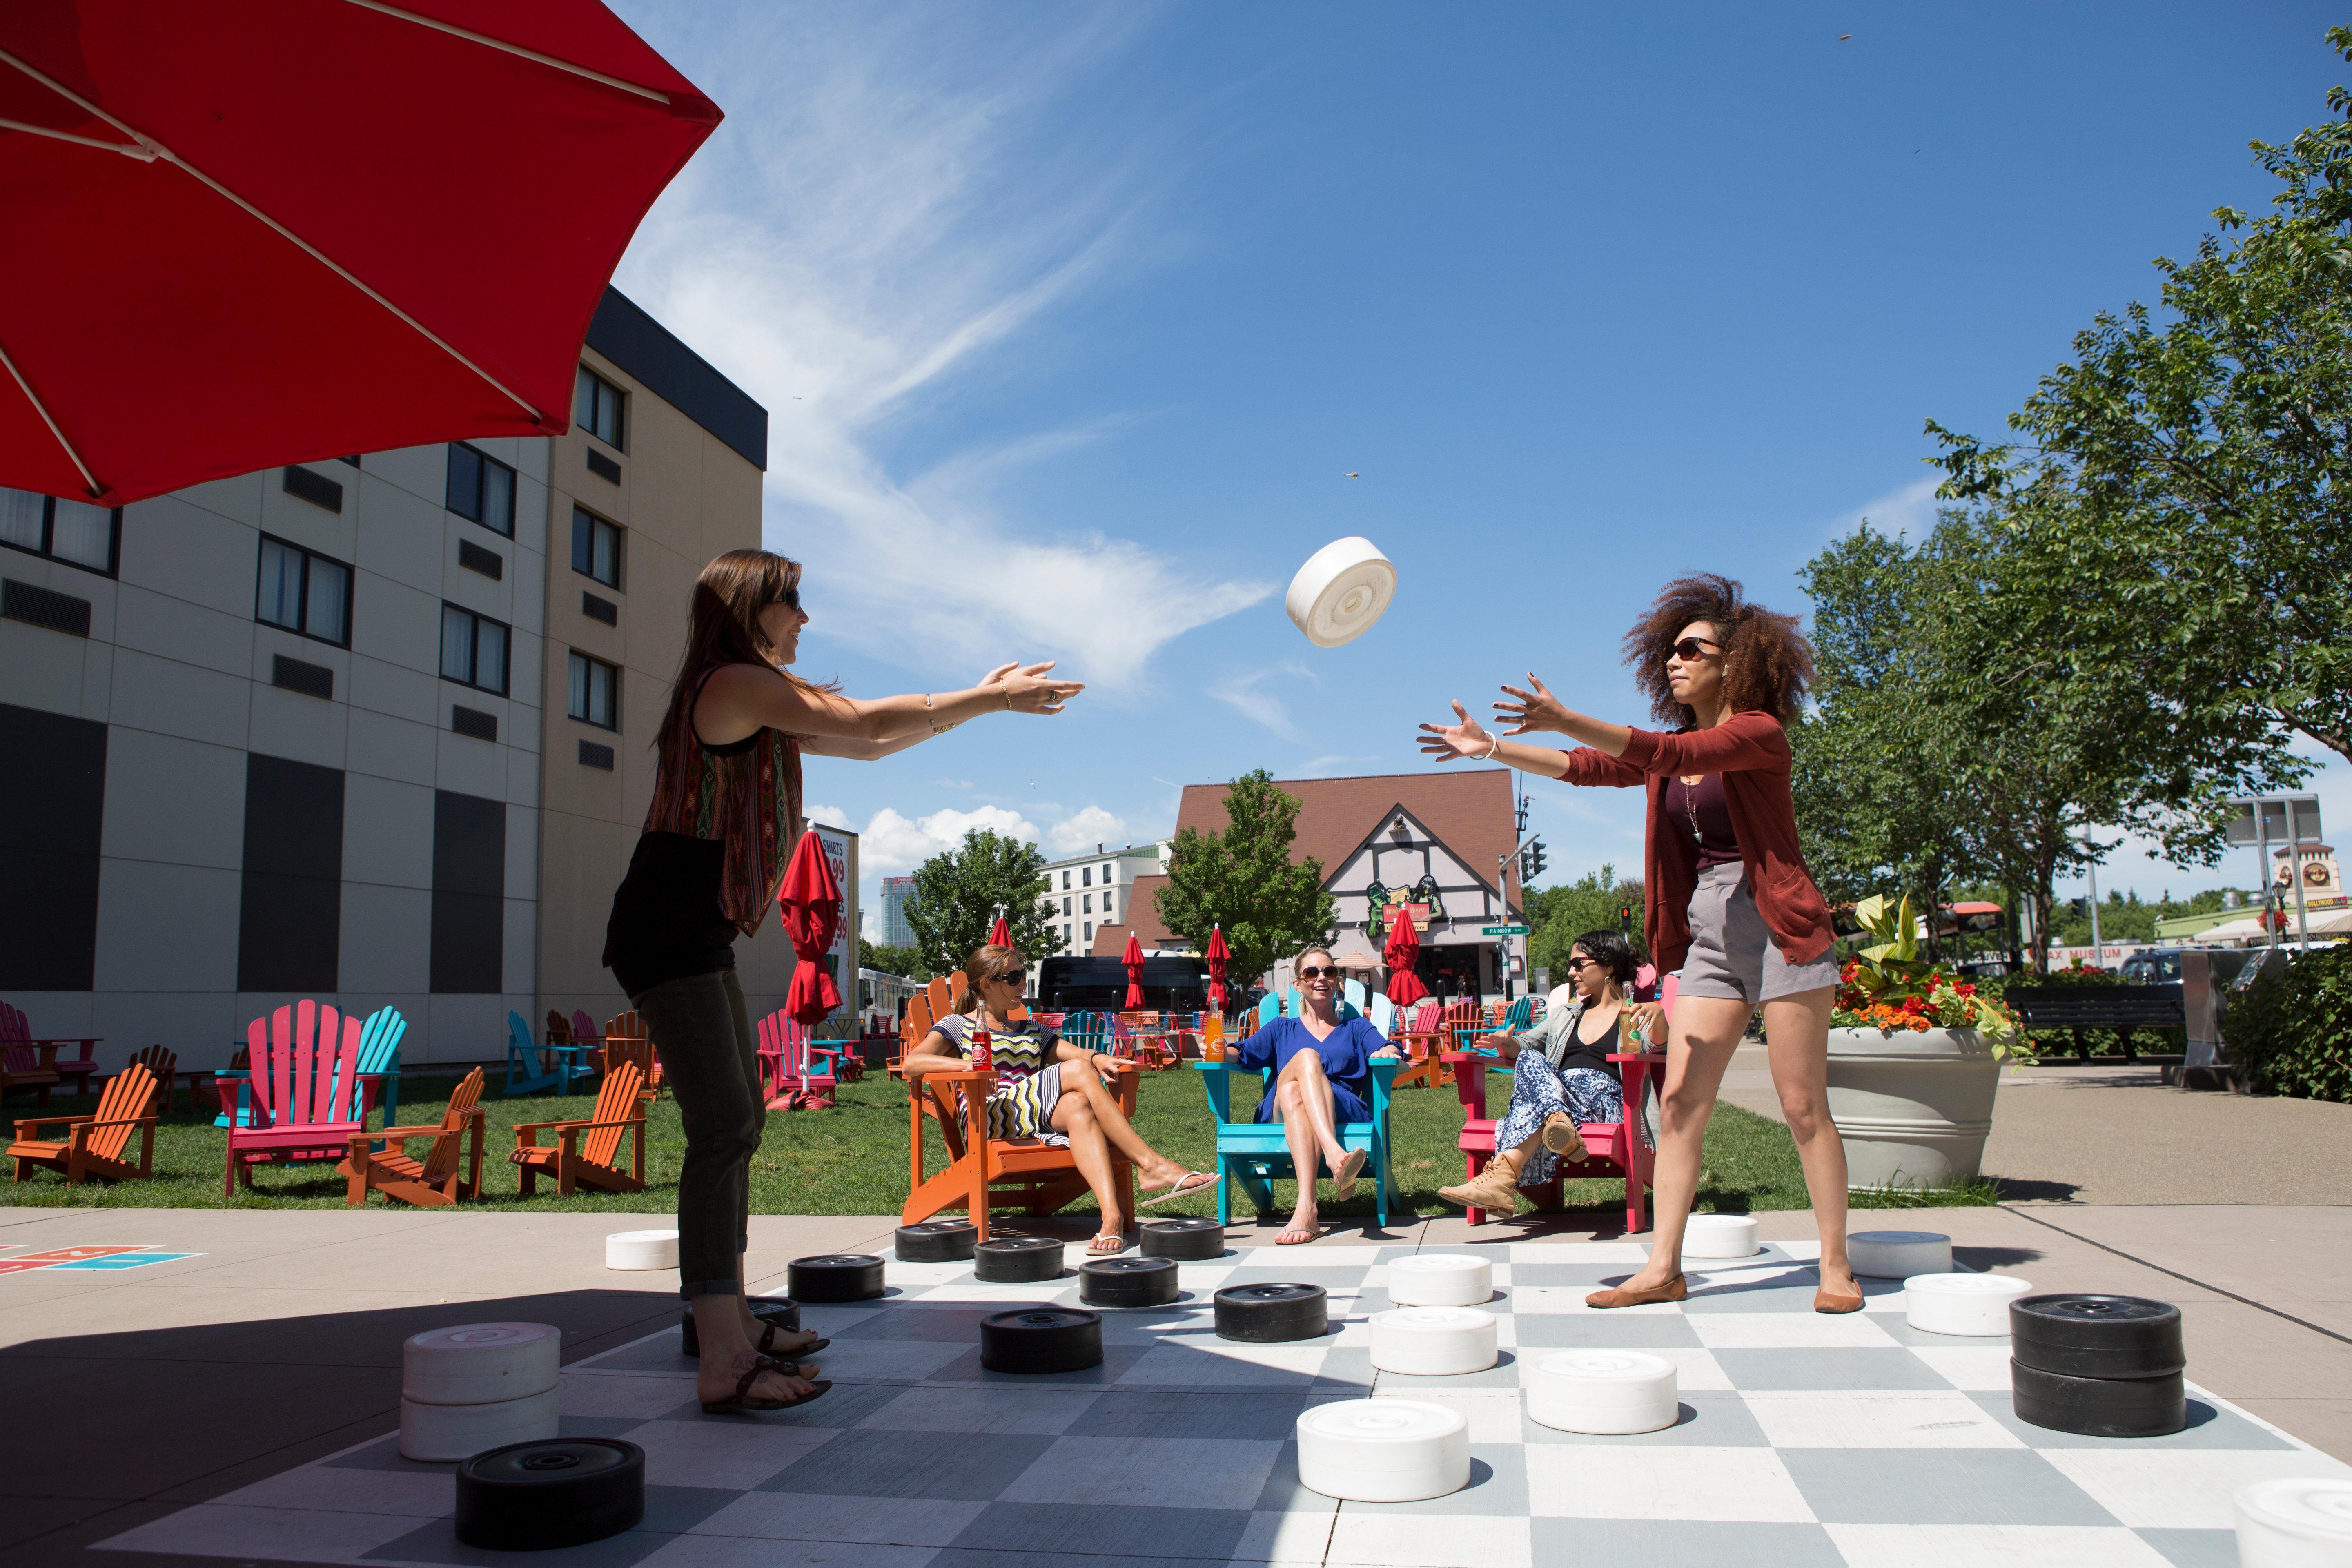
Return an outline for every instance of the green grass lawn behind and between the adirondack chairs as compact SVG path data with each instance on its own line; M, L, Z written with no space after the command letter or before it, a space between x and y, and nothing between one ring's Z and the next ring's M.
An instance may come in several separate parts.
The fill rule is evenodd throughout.
M492 1079L496 1084L496 1079ZM400 1119L409 1126L437 1121L447 1105L454 1079L409 1077L400 1084ZM1496 1081L1501 1091L1503 1084ZM87 1114L94 1098L56 1095L49 1105L54 1114ZM1235 1081L1235 1114L1249 1114L1256 1098L1244 1081ZM223 1133L212 1126L212 1114L181 1107L155 1128L155 1180L148 1182L85 1182L68 1187L61 1175L35 1171L31 1180L7 1187L7 1204L40 1206L120 1206L120 1208L336 1208L343 1204L343 1180L332 1166L263 1166L254 1173L254 1187L235 1199L221 1199L221 1145ZM487 1197L482 1208L581 1208L612 1213L668 1213L677 1206L677 1161L684 1154L684 1135L677 1126L677 1105L668 1098L654 1105L647 1124L647 1190L635 1194L574 1194L555 1197L553 1180L541 1180L536 1197L515 1192L515 1168L506 1154L515 1147L510 1128L517 1121L553 1121L560 1117L586 1119L595 1107L593 1095L522 1095L515 1100L492 1095L489 1135L485 1140ZM12 1100L5 1117L28 1117L35 1107ZM906 1159L906 1088L868 1072L861 1084L844 1084L840 1105L816 1112L771 1112L767 1140L753 1161L753 1211L755 1213L896 1213L908 1192ZM5 1119L0 1117L0 1119ZM1136 1126L1152 1147L1188 1166L1207 1168L1211 1157L1209 1107L1202 1095L1200 1074L1155 1072L1143 1077ZM1390 1112L1395 1135L1395 1175L1399 1204L1406 1218L1461 1213L1437 1197L1437 1187L1463 1178L1463 1157L1454 1140L1461 1135L1461 1100L1449 1088L1406 1088ZM136 1157L136 1140L132 1157ZM409 1147L423 1152L423 1143ZM938 1135L931 1133L931 1168L943 1159ZM1277 1197L1287 1197L1289 1185L1277 1185ZM383 1197L369 1199L386 1204ZM1957 1192L1898 1194L1893 1201L1872 1197L1872 1206L1896 1204L1990 1204L1992 1182L1978 1182ZM1185 1197L1162 1204L1152 1215L1207 1215L1216 1199ZM1623 1180L1581 1180L1566 1185L1566 1204L1573 1211L1609 1213L1625 1204ZM1766 1117L1757 1117L1736 1105L1719 1105L1708 1126L1708 1166L1700 1187L1700 1208L1755 1211L1755 1208L1806 1208L1804 1175L1797 1168L1797 1145L1788 1128ZM1084 1199L1070 1213L1091 1213L1094 1201ZM1369 1215L1371 1185L1359 1187L1348 1204L1327 1204L1334 1218ZM1247 1215L1237 1215L1247 1218Z

